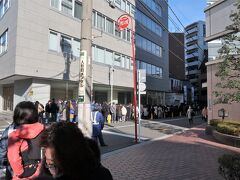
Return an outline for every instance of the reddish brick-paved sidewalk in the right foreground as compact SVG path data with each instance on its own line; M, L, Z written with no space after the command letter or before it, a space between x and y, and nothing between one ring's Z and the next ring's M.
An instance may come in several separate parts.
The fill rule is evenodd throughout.
M218 157L240 149L215 142L204 130L192 128L110 152L102 156L102 163L115 180L221 180Z

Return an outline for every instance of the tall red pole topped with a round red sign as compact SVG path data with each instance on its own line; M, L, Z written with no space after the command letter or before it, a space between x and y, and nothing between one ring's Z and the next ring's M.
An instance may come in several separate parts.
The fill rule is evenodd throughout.
M134 31L133 31L133 18L129 14L121 15L118 20L119 30L124 30L128 28L131 23L131 33L132 33L132 62L133 62L133 103L134 103L134 120L135 120L135 142L137 143L137 78L136 78L136 62L135 62L135 45L134 45Z

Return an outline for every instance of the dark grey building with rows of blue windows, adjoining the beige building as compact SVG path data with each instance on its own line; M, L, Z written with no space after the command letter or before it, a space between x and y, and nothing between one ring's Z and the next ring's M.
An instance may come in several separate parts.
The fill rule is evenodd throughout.
M146 69L143 104L165 104L169 91L168 6L160 0L136 1L136 60Z

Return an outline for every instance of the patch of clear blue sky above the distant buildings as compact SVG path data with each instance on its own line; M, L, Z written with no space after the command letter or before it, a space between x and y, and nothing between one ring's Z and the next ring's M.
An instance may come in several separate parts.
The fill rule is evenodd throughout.
M168 0L168 3L182 24L187 26L195 21L205 20L204 8L206 8L206 1L207 0ZM169 10L169 15L177 23L177 25L173 25L173 23L169 21L169 31L175 32L179 28L183 29L171 10Z

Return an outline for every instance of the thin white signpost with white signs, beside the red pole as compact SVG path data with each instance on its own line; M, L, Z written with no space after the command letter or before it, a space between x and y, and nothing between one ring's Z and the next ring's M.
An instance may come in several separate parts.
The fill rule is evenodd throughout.
M141 142L141 94L146 94L146 70L138 70L138 141Z

